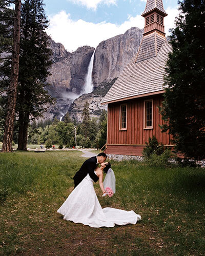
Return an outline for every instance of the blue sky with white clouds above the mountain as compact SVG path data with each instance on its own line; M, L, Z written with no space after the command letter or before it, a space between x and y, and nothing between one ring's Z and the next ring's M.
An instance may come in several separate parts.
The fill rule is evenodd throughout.
M174 27L178 14L178 0L163 0L169 14L165 17L165 31ZM49 19L47 33L56 43L69 51L78 47L97 45L132 27L144 28L147 0L44 0Z

